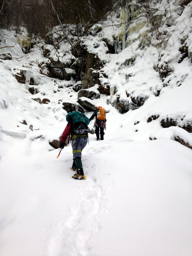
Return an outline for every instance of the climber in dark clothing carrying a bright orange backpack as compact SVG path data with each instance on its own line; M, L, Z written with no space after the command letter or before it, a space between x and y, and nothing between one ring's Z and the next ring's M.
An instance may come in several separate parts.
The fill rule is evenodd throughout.
M106 110L101 106L97 107L96 111L89 118L89 122L95 117L93 127L95 128L96 140L103 140L104 129L106 130ZM100 134L100 137L99 137Z

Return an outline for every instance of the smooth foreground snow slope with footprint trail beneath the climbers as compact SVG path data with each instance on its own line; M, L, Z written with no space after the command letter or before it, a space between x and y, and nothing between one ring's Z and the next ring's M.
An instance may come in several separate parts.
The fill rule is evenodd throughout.
M71 147L41 147L15 139L1 158L1 256L191 255L191 149L92 135L77 181Z

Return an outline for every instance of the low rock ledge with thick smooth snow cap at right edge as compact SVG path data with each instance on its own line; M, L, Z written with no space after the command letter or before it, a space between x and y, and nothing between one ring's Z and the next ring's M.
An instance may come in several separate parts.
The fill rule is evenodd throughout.
M158 129L149 135L150 140L171 139L180 142L182 145L192 149L192 133L183 128L171 126Z

